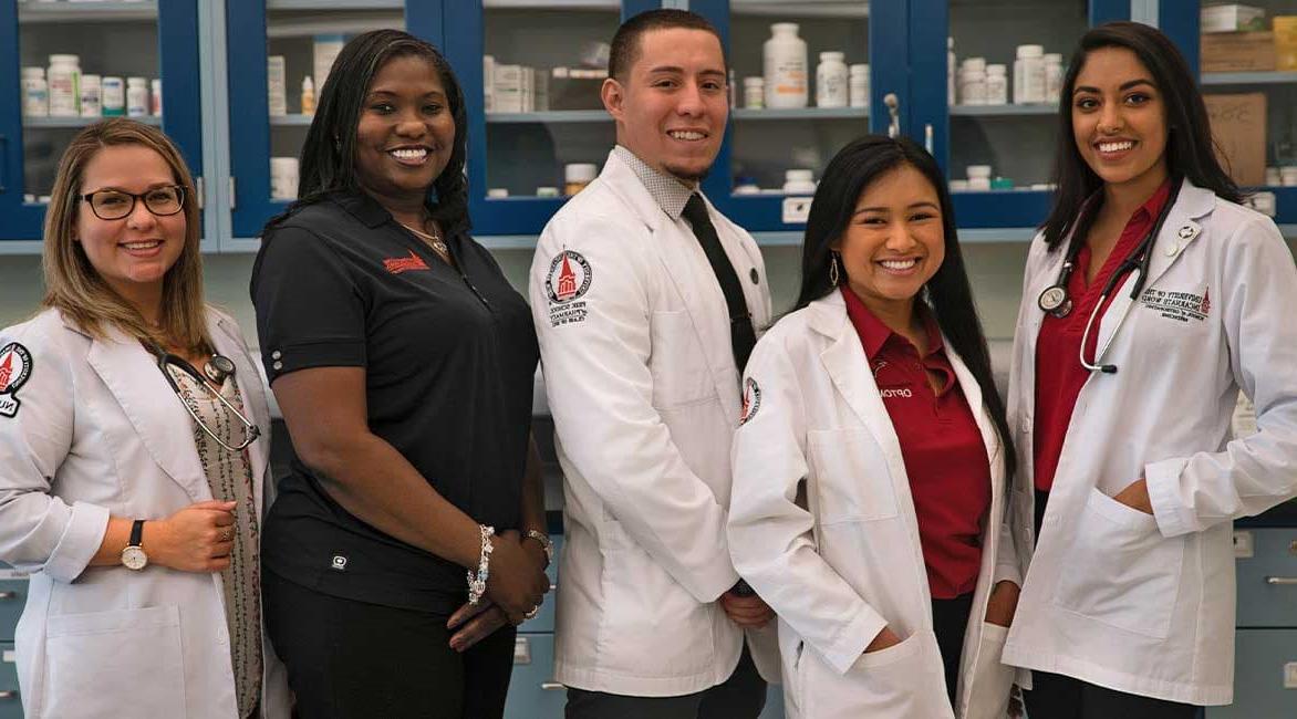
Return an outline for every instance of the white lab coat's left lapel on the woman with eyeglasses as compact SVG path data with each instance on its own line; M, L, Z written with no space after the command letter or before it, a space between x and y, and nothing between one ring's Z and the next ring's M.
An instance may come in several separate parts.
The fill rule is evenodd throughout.
M122 407L153 461L195 501L211 499L189 429L193 418L162 377L157 360L121 329L105 326L105 333L91 341L87 361Z

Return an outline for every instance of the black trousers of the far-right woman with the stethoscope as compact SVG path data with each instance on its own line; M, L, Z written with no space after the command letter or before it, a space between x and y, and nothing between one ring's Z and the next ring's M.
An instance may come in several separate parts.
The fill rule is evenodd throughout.
M1049 492L1036 490L1036 539L1049 505ZM1061 674L1031 671L1030 692L1023 692L1031 719L1196 719L1198 709L1127 694Z

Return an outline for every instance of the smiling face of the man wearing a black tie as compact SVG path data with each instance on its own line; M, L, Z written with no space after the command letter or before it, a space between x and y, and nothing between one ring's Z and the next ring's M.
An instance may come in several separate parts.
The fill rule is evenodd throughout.
M603 83L617 144L659 172L700 180L720 152L729 118L720 40L686 27L647 31L625 75Z

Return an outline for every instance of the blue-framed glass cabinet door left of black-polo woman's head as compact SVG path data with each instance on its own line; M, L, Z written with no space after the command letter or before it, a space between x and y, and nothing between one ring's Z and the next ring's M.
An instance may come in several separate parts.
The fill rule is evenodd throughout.
M298 154L314 102L346 40L390 27L440 44L441 13L441 0L230 0L236 238L259 236L265 222L297 198Z

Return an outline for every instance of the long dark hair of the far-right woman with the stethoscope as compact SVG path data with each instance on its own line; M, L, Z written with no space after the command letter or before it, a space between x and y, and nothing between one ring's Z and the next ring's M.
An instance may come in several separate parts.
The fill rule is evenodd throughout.
M1211 122L1202 101L1189 63L1162 31L1141 22L1109 22L1086 32L1077 45L1062 80L1058 100L1058 141L1054 149L1054 206L1041 228L1051 250L1058 247L1073 229L1084 233L1093 220L1102 196L1086 206L1086 200L1104 187L1104 180L1086 165L1077 150L1075 130L1071 124L1071 95L1077 88L1077 75L1086 66L1089 53L1102 48L1123 48L1135 53L1140 63L1153 75L1153 84L1162 95L1166 108L1166 168L1175 179L1187 179L1195 185L1210 189L1223 200L1240 202L1243 192L1230 179L1230 174L1217 159L1211 140Z

